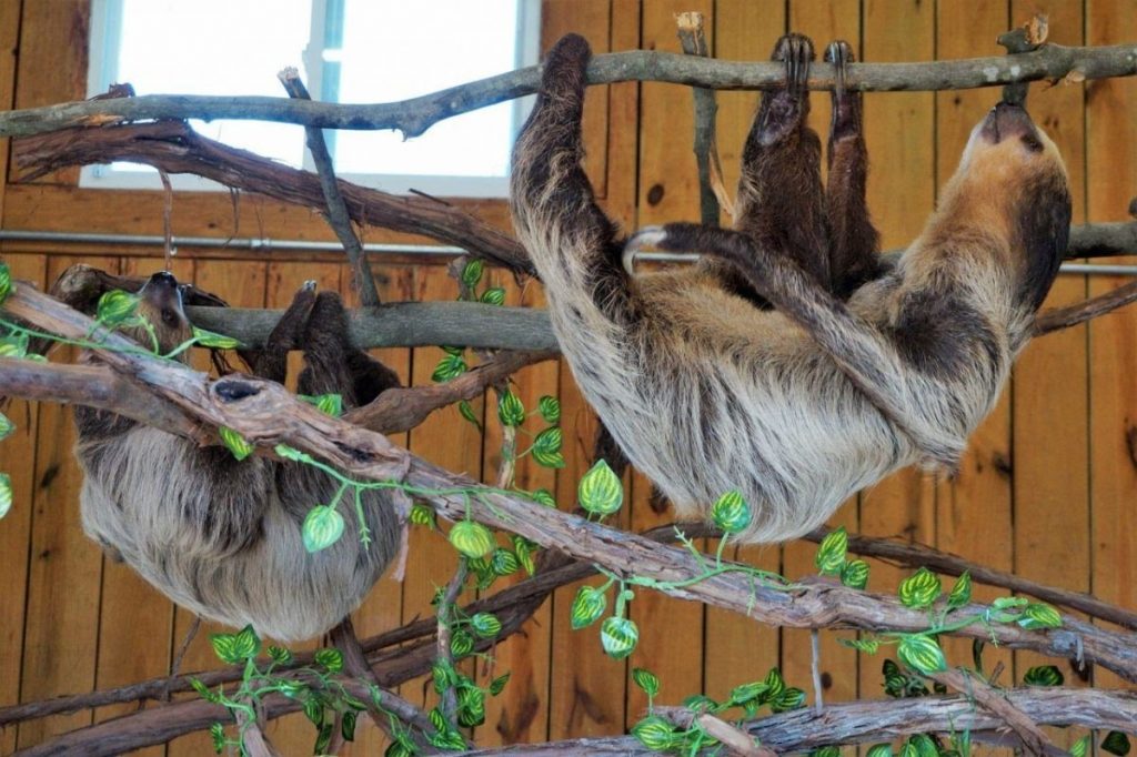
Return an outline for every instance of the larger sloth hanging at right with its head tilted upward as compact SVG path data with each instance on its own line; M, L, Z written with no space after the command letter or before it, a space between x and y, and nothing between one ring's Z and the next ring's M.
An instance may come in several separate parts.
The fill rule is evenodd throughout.
M674 223L625 247L581 168L589 57L575 35L549 53L512 209L561 348L631 463L683 518L739 490L754 542L810 531L902 466L955 468L1067 247L1065 168L1026 111L999 103L976 126L938 209L886 268L860 99L833 93L823 191L805 126L812 45L783 38L788 85L763 95L747 138L737 231ZM827 58L844 72L848 45ZM645 244L704 259L633 276L623 258Z

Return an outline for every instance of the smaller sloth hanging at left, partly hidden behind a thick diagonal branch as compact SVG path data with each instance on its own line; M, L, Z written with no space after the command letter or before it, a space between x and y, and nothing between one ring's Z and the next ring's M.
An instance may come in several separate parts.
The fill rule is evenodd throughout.
M163 351L191 336L172 275L155 274L140 294L139 310ZM288 351L299 348L301 393L335 392L354 407L398 385L389 368L349 344L339 296L317 296L313 283L255 353L254 372L283 382ZM235 627L251 623L283 641L318 635L359 605L396 552L400 525L385 493L363 494L370 548L358 539L355 508L341 506L343 535L309 554L300 526L308 510L335 494L326 474L263 457L238 461L223 447L199 447L86 407L75 408L75 424L88 535L204 617Z

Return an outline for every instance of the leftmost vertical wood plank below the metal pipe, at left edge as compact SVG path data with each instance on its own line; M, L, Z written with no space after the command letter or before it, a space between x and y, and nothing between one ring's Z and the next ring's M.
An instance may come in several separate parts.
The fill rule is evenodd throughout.
M14 280L32 282L43 289L47 258L42 255L6 255L3 263ZM0 408L16 424L16 431L0 441L0 472L11 477L13 502L0 521L0 702L19 700L20 658L23 656L24 610L28 601L28 550L32 534L32 508L35 491L35 450L39 406L13 400ZM69 506L69 504L68 504ZM0 752L16 750L16 729L0 732Z

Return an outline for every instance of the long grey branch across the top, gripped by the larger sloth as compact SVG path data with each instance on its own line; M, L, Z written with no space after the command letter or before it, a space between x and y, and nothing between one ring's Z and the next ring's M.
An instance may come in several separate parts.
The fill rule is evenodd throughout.
M846 83L863 91L935 91L998 86L1012 82L1077 81L1137 74L1137 43L1101 48L1046 44L1034 52L965 60L853 64ZM781 64L713 60L670 52L633 50L596 56L589 84L670 82L713 90L762 90L785 83ZM26 136L72 126L106 126L159 118L276 120L321 128L396 128L418 136L430 126L479 108L537 92L537 66L470 82L401 102L334 105L267 97L149 94L68 102L0 114L0 136ZM808 86L833 88L833 67L816 63Z

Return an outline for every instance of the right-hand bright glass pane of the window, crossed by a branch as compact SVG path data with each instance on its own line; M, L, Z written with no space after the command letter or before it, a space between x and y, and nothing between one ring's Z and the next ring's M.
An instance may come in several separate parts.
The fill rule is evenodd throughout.
M402 100L517 65L516 0L347 0L341 102ZM402 141L398 132L337 135L343 173L505 176L513 105L465 114Z

